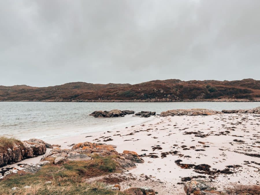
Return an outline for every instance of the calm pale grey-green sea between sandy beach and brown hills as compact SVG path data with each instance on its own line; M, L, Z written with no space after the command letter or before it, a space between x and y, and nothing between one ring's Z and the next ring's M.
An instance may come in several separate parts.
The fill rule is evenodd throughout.
M68 137L118 127L127 127L152 120L125 116L119 118L93 118L95 110L162 111L170 109L207 108L250 109L259 102L0 102L0 135L29 138Z

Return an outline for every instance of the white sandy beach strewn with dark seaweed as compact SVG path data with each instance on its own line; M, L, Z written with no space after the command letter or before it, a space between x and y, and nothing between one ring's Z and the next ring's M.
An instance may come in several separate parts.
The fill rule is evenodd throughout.
M142 155L144 164L137 164L137 168L129 170L127 174L131 174L131 177L135 178L150 175L149 178L152 179L148 180L148 184L154 185L151 187L159 194L166 194L169 191L174 194L185 194L183 190L185 182L182 181L182 178L185 177L196 176L211 180L221 189L232 183L259 184L257 178L259 177L260 159L246 155L260 153L259 121L259 114L155 116L151 121L127 128L118 127L110 131L91 132L44 141L51 142L50 144L60 144L61 149L70 149L72 146L69 145L80 142L97 142L115 145L118 152L135 151ZM109 138L112 140L104 142ZM171 154L174 151L177 151L176 154ZM151 155L149 157L150 153L155 153L153 155L157 157ZM32 163L28 161L35 162L40 158L41 156L26 159L22 163ZM182 164L192 166L193 164L194 166L208 164L212 171L214 169L225 170L227 166L231 166L229 169L233 173L214 173L213 175L207 174L207 171L198 173L194 166L187 169L181 168L176 163L177 160L181 160ZM147 181L143 180L132 181L132 183L140 186L147 185ZM126 187L128 183L122 182L121 185Z

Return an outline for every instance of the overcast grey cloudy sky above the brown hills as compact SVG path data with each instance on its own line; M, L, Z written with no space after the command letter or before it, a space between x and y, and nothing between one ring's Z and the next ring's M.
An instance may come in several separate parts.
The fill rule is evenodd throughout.
M259 0L0 1L0 85L260 79Z

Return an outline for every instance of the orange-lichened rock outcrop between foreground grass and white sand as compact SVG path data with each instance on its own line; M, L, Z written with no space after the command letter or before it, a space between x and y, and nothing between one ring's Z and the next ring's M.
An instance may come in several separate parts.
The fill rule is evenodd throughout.
M75 144L71 149L55 148L49 154L42 156L41 162L60 164L64 161L88 161L94 156L110 156L117 163L118 170L129 170L136 168L135 163L144 163L137 153L126 150L118 153L115 148L114 145L84 142Z

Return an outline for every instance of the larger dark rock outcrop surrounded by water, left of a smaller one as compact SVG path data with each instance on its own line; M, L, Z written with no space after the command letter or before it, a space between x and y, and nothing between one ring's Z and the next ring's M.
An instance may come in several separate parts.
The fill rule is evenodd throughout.
M96 118L101 118L101 117L118 117L118 116L125 116L126 114L134 114L135 112L132 110L110 110L110 111L94 111L90 114L90 116L94 116Z

